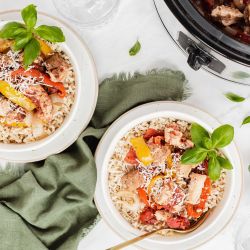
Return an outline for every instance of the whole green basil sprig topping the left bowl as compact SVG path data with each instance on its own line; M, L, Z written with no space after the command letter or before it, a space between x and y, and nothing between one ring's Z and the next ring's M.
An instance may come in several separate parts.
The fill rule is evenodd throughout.
M24 65L27 68L40 54L40 43L38 38L56 43L64 42L65 37L60 28L55 26L41 25L35 27L37 23L36 6L28 5L21 11L24 23L9 22L0 30L0 38L12 39L15 41L14 50L24 50Z

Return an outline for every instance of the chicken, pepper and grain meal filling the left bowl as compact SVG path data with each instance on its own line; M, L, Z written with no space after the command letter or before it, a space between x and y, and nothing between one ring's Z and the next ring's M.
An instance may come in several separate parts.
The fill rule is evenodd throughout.
M39 40L41 53L25 68L22 50L0 39L0 142L28 143L59 128L75 96L69 57L58 44Z

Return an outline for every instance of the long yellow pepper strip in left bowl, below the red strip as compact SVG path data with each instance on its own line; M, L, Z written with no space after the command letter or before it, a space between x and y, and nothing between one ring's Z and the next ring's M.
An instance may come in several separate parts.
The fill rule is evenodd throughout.
M0 81L0 93L28 111L32 111L36 108L36 105L28 97L11 87L10 84L5 81Z

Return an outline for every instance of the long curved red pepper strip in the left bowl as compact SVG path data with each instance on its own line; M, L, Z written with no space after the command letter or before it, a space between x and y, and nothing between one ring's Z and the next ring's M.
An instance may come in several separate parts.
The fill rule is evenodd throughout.
M65 88L64 88L64 86L63 86L63 84L61 82L53 82L47 74L42 73L37 69L25 70L23 68L19 68L18 70L12 71L11 76L12 77L15 77L15 76L24 76L24 77L31 76L31 77L35 77L39 81L44 82L46 85L59 90L58 95L60 97L63 98L63 97L66 96L66 90L65 90Z

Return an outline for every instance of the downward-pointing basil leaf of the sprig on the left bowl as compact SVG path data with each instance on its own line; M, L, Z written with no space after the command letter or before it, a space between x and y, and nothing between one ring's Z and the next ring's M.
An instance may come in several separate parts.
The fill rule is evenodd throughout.
M38 57L40 50L39 42L32 38L24 48L24 65L26 68Z

